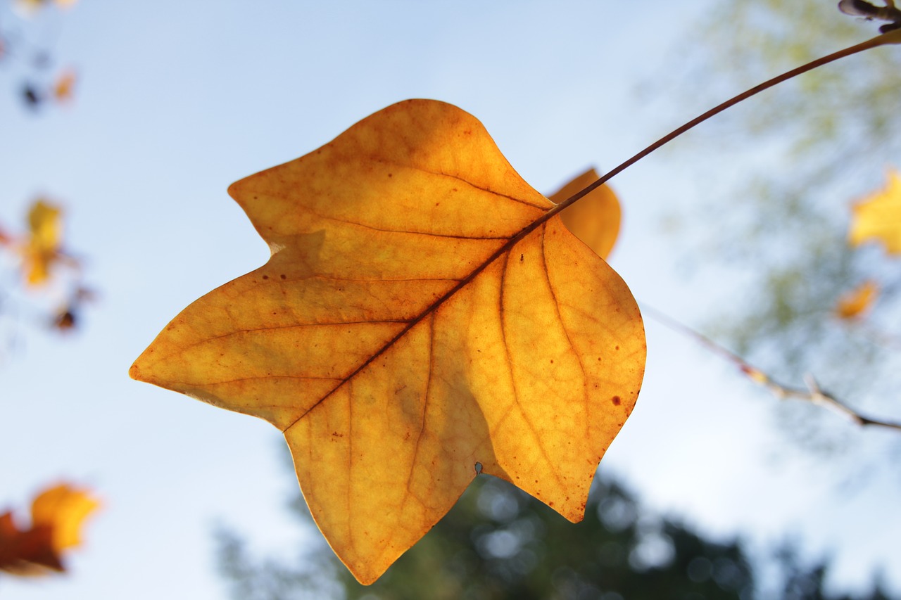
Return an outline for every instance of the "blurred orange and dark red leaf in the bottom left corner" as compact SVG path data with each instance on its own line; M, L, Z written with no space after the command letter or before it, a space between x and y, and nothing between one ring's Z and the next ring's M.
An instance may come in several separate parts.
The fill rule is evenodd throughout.
M81 543L81 528L99 503L86 491L67 484L50 487L32 502L28 529L13 514L0 515L0 570L22 577L64 571L63 550Z

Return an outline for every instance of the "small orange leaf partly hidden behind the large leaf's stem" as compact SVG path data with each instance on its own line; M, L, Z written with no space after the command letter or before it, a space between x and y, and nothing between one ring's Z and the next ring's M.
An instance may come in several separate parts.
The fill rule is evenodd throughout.
M598 178L597 171L589 168L548 198L555 205L559 205L569 196L593 184ZM619 200L610 186L605 184L561 212L560 220L579 240L587 243L591 250L595 250L597 256L606 259L619 236L620 214Z

